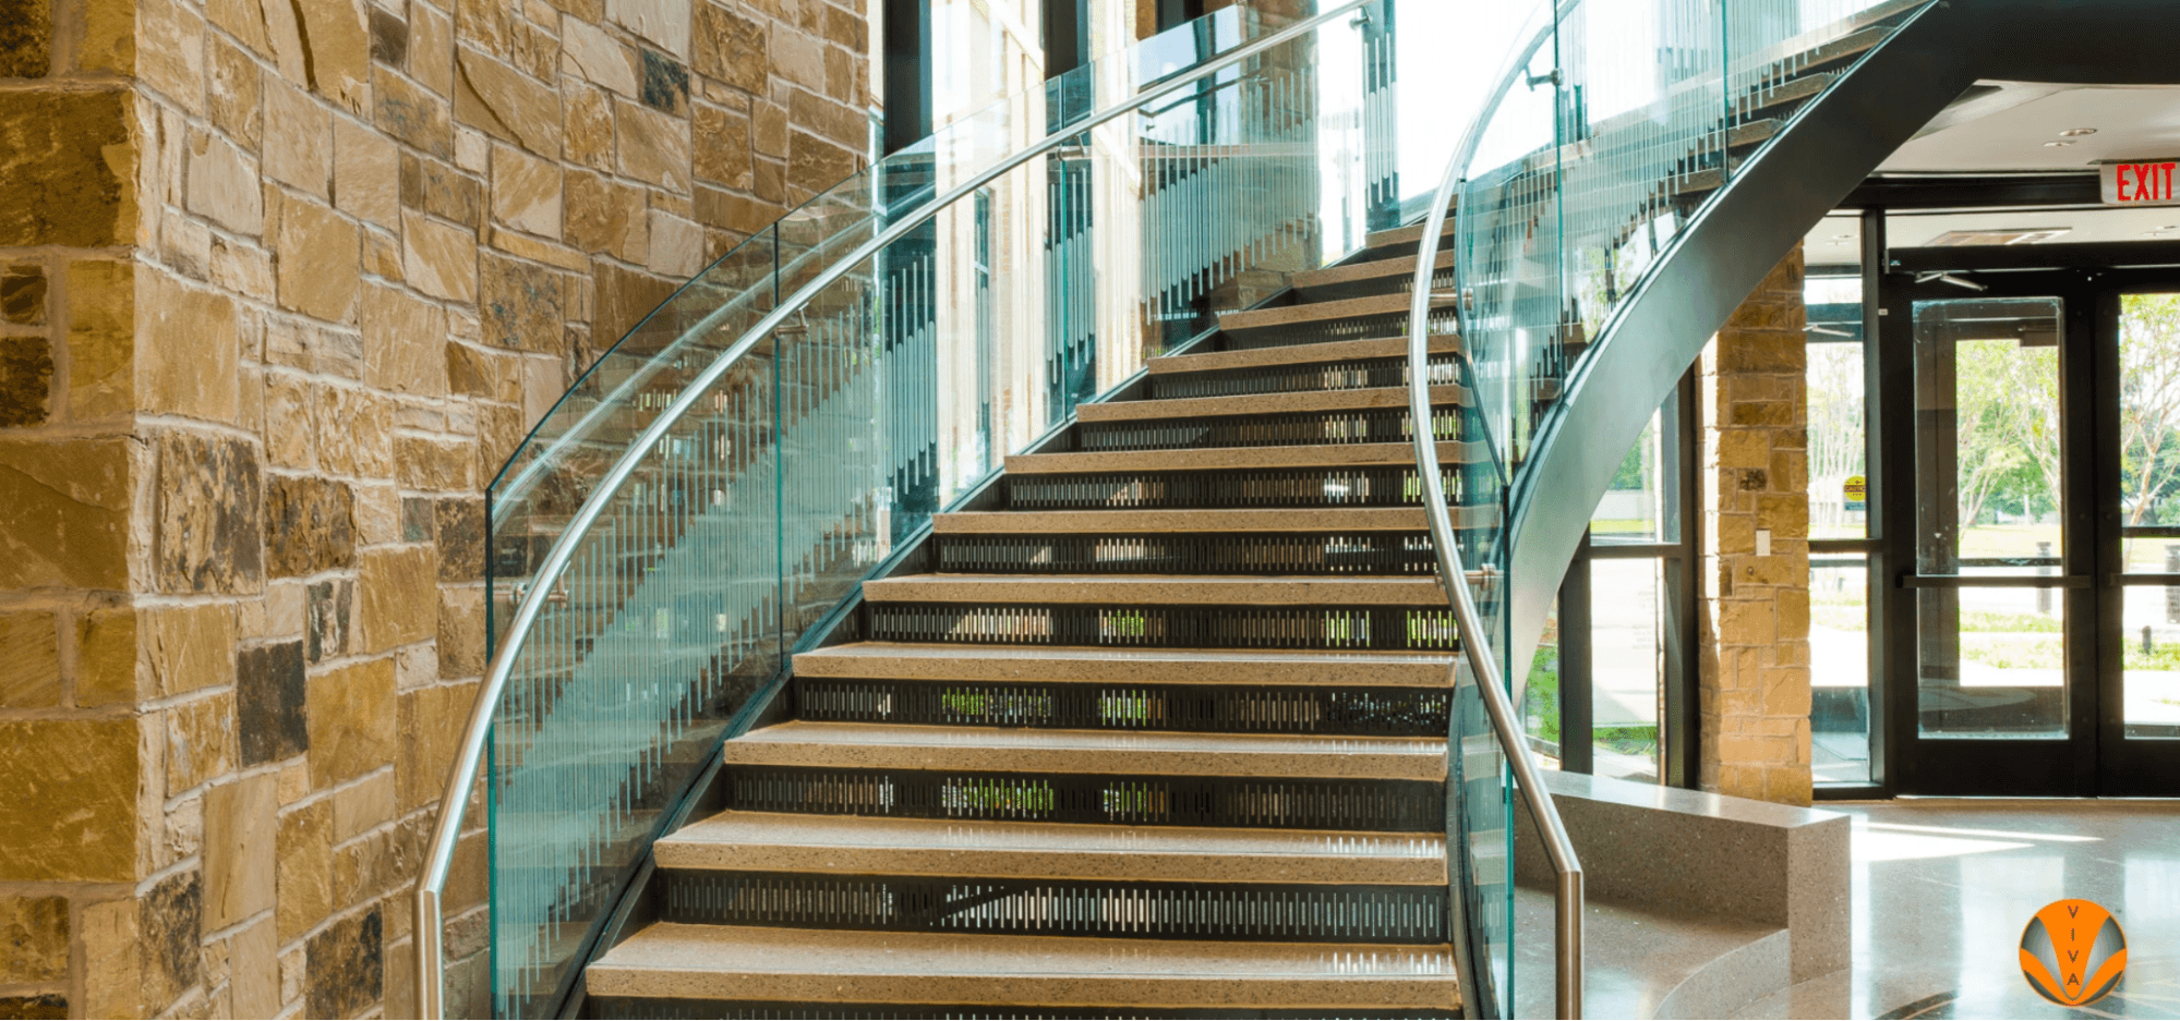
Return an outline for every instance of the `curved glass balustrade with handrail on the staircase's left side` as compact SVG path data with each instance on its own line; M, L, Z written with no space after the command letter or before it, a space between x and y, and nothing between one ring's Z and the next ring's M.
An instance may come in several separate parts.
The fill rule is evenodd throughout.
M1243 4L789 211L593 366L491 490L475 734L419 893L491 877L493 1010L558 1010L667 812L933 512L1397 216L1382 0ZM462 849L462 856L456 851ZM471 910L471 906L447 903Z

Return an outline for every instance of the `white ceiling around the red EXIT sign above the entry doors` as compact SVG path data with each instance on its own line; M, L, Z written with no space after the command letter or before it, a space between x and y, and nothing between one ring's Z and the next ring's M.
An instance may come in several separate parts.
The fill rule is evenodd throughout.
M2067 131L2075 135L2062 135ZM1877 172L2086 172L2102 161L2152 157L2180 157L2180 87L1986 81L1962 94ZM1886 244L1894 248L1969 231L2064 231L2043 237L2056 244L2180 239L2180 207L1918 209L1886 218ZM1860 237L1855 216L1825 218L1809 231L1805 257L1812 266L1855 263Z

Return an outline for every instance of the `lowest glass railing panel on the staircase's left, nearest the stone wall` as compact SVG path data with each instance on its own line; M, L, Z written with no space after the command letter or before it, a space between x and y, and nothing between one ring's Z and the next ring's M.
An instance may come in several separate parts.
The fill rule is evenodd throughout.
M770 344L746 355L541 579L493 718L499 1017L558 1001L685 777L778 673L774 374Z

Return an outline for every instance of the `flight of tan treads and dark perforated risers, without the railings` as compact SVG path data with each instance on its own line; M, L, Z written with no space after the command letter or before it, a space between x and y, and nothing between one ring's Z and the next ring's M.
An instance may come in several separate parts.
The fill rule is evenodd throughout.
M586 1012L1461 1017L1413 266L1297 274L940 514L726 742Z

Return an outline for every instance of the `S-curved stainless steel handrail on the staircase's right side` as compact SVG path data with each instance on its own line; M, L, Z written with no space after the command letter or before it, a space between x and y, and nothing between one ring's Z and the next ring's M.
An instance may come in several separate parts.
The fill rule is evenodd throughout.
M1554 4L1546 4L1543 9L1557 13ZM1445 588L1445 599L1454 605L1454 618L1461 625L1461 651L1469 660L1469 673L1476 675L1476 690L1482 697L1485 714L1491 716L1491 731L1498 734L1500 745L1506 749L1506 764L1513 768L1513 779L1528 792L1528 814L1537 821L1537 832L1543 834L1543 853L1552 860L1552 871L1559 873L1559 886L1552 890L1552 917L1559 938L1554 1001L1559 1017L1578 1019L1583 1017L1583 862L1574 856L1574 840L1567 838L1567 827L1559 821L1559 805L1552 803L1552 792L1539 779L1541 771L1528 751L1522 725L1515 721L1513 699L1506 697L1504 673L1498 660L1491 657L1491 642L1487 640L1482 616L1476 612L1476 596L1469 592L1461 549L1454 546L1454 518L1445 509L1445 481L1439 477L1437 429L1430 427L1430 283L1437 274L1439 235L1445 231L1445 211L1454 200L1454 189L1463 181L1463 170L1467 170L1469 159L1476 155L1485 122L1498 109L1500 98L1506 96L1515 78L1526 74L1528 59L1535 57L1548 33L1550 26L1535 35L1528 48L1519 50L1511 61L1498 89L1469 124L1461 148L1445 161L1445 174L1439 179L1430 213L1424 218L1424 239L1417 244L1415 257L1415 290L1408 300L1408 420L1413 422L1408 433L1415 438L1415 472L1424 483L1424 518L1430 520L1430 544L1439 553L1439 586ZM1465 281L1456 276L1456 303L1465 294L1463 285ZM1504 588L1509 581L1500 579L1500 586ZM1504 592L1500 599L1504 599ZM1461 684L1458 666L1454 668L1454 684ZM1445 753L1461 755L1461 747L1450 745ZM1465 849L1454 849L1454 853L1465 853ZM1509 871L1511 866L1513 862L1509 862ZM1502 1008L1506 1008L1504 1014L1513 1017L1513 991L1500 991L1500 999Z

